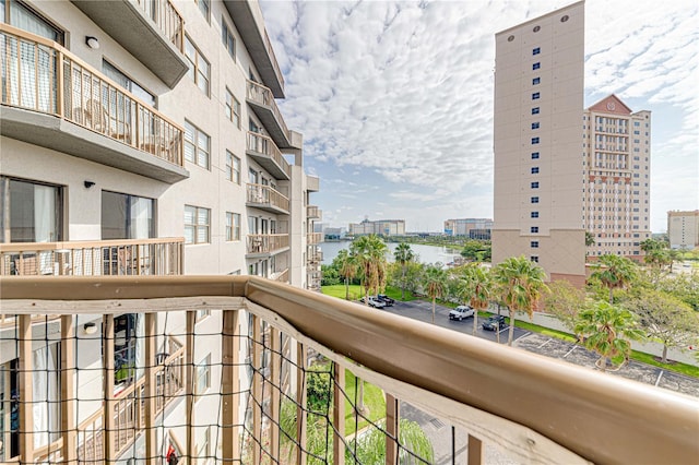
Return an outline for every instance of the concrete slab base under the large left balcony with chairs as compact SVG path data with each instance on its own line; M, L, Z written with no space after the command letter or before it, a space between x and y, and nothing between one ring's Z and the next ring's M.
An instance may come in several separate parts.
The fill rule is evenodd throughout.
M0 134L173 184L189 171L63 119L0 107Z

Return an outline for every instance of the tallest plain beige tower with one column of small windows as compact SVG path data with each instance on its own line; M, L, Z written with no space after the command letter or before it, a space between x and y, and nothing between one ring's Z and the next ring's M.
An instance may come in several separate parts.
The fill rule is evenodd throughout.
M496 34L493 261L584 283L584 2Z

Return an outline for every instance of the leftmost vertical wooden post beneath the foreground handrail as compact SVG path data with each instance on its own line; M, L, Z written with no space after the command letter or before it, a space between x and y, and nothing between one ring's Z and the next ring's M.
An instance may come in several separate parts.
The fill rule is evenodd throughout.
M20 463L34 463L32 315L20 315Z

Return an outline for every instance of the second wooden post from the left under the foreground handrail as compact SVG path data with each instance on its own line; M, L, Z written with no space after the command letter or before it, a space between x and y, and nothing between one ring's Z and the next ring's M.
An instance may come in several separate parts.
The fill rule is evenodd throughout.
M72 398L75 395L75 326L73 315L61 317L61 431L63 438L62 456L64 463L78 460L75 417Z

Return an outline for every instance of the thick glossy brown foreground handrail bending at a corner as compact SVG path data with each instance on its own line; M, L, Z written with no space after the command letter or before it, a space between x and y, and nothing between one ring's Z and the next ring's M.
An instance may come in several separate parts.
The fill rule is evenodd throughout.
M3 312L22 314L56 308L91 314L115 308L128 311L125 306L168 311L167 302L178 297L211 309L245 308L247 300L270 309L339 356L525 426L587 460L689 463L699 456L699 402L692 397L268 279L0 278L0 295ZM58 300L61 307L56 307ZM95 308L92 301L98 300L109 305ZM535 449L536 442L529 441Z

